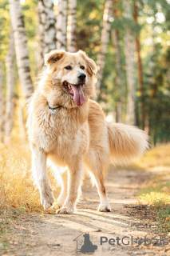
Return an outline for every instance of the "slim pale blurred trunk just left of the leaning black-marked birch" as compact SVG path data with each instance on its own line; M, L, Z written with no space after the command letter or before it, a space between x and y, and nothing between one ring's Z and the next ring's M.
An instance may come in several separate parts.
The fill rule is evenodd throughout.
M14 34L10 27L9 50L6 54L6 124L4 142L10 145L14 117Z

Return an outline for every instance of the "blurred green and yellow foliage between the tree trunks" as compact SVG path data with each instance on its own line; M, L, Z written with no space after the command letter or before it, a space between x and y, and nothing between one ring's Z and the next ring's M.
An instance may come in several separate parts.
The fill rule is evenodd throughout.
M23 1L22 1L23 2ZM117 2L117 18L110 19L112 30L118 30L121 46L121 98L123 122L125 122L127 87L125 66L125 30L132 30L133 38L140 36L140 54L143 64L144 96L140 95L136 65L136 117L137 126L141 126L140 102L144 102L145 126L152 137L152 142L168 142L170 140L170 5L167 0L129 0L133 14L133 2L138 4L138 22L133 18L123 17L121 1ZM32 78L38 74L38 14L37 0L25 0L22 4L22 15L26 25L30 54ZM100 51L101 29L105 0L77 0L77 50L82 49L95 61ZM57 6L55 6L55 9ZM3 62L4 87L6 87L5 56L8 50L10 14L9 2L0 3L0 58ZM135 47L135 44L134 44ZM99 102L106 113L113 114L116 119L116 103L120 97L116 86L115 48L110 37L108 51L105 56L105 70L101 83ZM15 96L21 97L21 86L15 69Z

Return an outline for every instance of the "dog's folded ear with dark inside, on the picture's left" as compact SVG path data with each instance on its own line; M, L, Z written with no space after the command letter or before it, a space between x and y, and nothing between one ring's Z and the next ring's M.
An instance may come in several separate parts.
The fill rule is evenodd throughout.
M45 54L45 65L51 65L58 62L65 54L65 50L51 50L49 54Z

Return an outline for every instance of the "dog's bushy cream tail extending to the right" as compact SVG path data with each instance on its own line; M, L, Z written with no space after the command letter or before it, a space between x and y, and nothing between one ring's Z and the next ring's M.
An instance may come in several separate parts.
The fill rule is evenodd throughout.
M135 126L108 122L108 133L113 164L126 165L149 148L148 135Z

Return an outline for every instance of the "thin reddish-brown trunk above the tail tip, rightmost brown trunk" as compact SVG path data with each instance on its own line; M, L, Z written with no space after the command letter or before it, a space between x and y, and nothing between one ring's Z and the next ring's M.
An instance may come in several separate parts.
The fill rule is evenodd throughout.
M134 21L137 23L137 3L133 3L134 6L134 13L133 18ZM136 35L136 53L137 53L137 70L138 70L138 79L139 79L139 86L140 86L140 109L141 109L141 122L142 122L142 129L144 130L145 126L145 114L144 114L144 80L143 80L143 69L142 69L142 62L140 57L140 38Z

